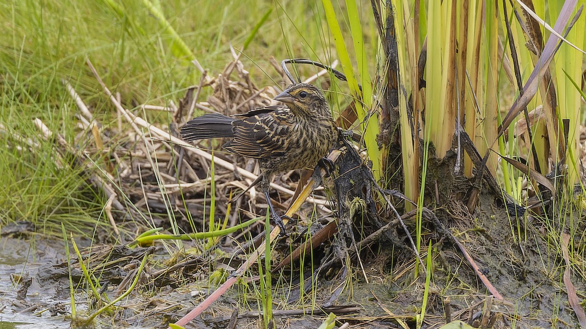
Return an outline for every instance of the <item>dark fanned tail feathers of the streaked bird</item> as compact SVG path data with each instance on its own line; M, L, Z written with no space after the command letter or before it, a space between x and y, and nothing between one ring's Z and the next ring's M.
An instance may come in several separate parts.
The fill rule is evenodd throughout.
M186 142L203 138L233 137L234 121L236 119L222 114L204 114L188 121L181 128L181 137Z

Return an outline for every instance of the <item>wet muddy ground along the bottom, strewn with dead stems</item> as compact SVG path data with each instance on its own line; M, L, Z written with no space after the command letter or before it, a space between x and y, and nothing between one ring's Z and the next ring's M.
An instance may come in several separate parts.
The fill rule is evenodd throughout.
M438 208L436 213L445 227L455 232L455 236L466 246L504 300L492 297L491 304L486 306L486 288L461 252L450 241L440 241L432 225L427 223L428 231L424 236L425 241L432 241L433 265L424 327L439 327L445 323L446 307L449 307L452 320L474 324L473 319L476 319L476 325L481 321L482 311L489 307L489 318L494 318L490 323L495 328L565 328L577 325L561 280L560 264L563 259L561 255L556 255L557 249L541 238L545 223L531 215L522 218L525 221L522 226L527 228L522 234L527 238L519 242L513 237L512 229L517 232L516 225L511 224L506 210L499 207L489 193L482 194L475 217L456 218L448 215L449 211L445 208ZM410 224L409 221L407 223ZM22 232L26 225L15 229L10 233L10 228L4 228L7 233L2 235L0 249L2 328L10 328L11 325L32 328L40 324L46 328L68 327L69 279L64 263L63 241ZM359 228L354 229L359 236ZM327 253L328 244L331 242L316 248L314 266L318 266L321 256ZM186 248L189 245L188 242ZM283 242L277 246L280 249L275 252L287 252L287 245ZM124 277L136 268L142 252L149 248L132 250L122 246L112 250L107 246L94 246L86 249L85 255L90 250L97 255L103 248L108 249L110 256L96 256L90 268L95 268L103 259L115 263L115 266L105 267L100 277L100 283L103 286L107 284L105 292L114 296L117 294L115 291L120 293L118 285ZM345 260L351 266L347 276L350 283L332 303L350 309L348 314L343 314L343 311L339 314L340 323L347 321L356 328L394 328L402 324L415 327L415 316L421 311L425 281L421 276L415 278L416 262L408 250L406 245L390 245L383 238L362 249L361 265L356 258ZM209 271L214 266L217 268L217 263L214 265L202 255L176 253L178 258L175 262L188 258L192 259L190 265L165 275L163 279L160 275L154 279L153 273L169 266L169 254L161 245L152 252L152 265L145 270L146 276L139 287L119 304L121 307L111 314L110 319L98 317L94 325L103 327L114 323L120 327L165 327L168 321L177 320L212 292ZM422 255L423 258L425 256ZM323 321L318 307L326 303L340 285L340 266L333 267L338 269L337 272L330 269L328 273L319 273L314 290L309 290L305 301L296 300L299 292L296 288L299 282L298 266L295 265L295 270L284 269L281 273L273 273L274 286L277 287L273 295L274 312L277 314L275 324L285 328L316 328ZM311 275L311 270L306 274ZM32 279L24 294L22 283L13 283L18 275ZM77 285L83 277L79 267L74 266L72 275ZM578 291L586 289L578 277L573 276L572 279ZM225 328L235 308L246 316L237 321L237 328L261 325L257 315L259 306L252 289L254 285L257 283L238 283L193 322L192 327ZM76 290L76 301L79 303L78 310L87 309L87 293L81 287ZM312 308L316 309L314 316L278 316L283 310Z

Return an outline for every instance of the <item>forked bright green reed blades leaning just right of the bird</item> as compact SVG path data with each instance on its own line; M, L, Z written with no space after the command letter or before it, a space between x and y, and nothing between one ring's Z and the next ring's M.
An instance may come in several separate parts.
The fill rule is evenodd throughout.
M376 140L377 135L379 134L379 125L377 124L378 121L376 116L371 118L369 114L369 109L372 108L372 85L370 84L368 67L366 66L364 42L362 39L362 27L360 25L360 20L357 14L358 10L356 8L356 1L349 0L346 2L346 6L349 16L348 19L350 22L350 29L352 32L352 40L354 41L355 56L359 65L358 72L355 72L354 68L352 67L352 61L350 60L350 55L348 54L346 44L344 43L342 30L340 30L340 25L338 24L338 19L336 18L336 12L333 9L332 1L322 0L322 3L329 29L331 30L332 36L334 38L336 51L338 52L338 57L340 58L340 64L342 64L342 70L344 71L344 74L347 78L350 94L356 99L355 105L358 119L363 122L364 143L366 143L366 153L368 154L370 160L372 160L374 178L379 180L381 176L380 168L382 163L379 146ZM358 87L358 80L356 78L357 76L358 78L362 77L360 78L360 81L362 82L362 93Z

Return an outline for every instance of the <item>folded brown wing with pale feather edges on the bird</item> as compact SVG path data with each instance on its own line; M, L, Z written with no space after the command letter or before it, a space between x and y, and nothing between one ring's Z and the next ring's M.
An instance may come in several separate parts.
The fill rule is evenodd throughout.
M234 139L227 142L224 149L257 159L283 156L292 125L287 108L234 121Z

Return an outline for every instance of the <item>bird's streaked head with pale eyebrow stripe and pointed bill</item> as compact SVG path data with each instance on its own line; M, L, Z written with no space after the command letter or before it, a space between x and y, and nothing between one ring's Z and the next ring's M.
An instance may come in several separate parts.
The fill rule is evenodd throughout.
M294 84L278 94L274 100L287 104L295 115L332 118L332 112L322 92L308 83Z

